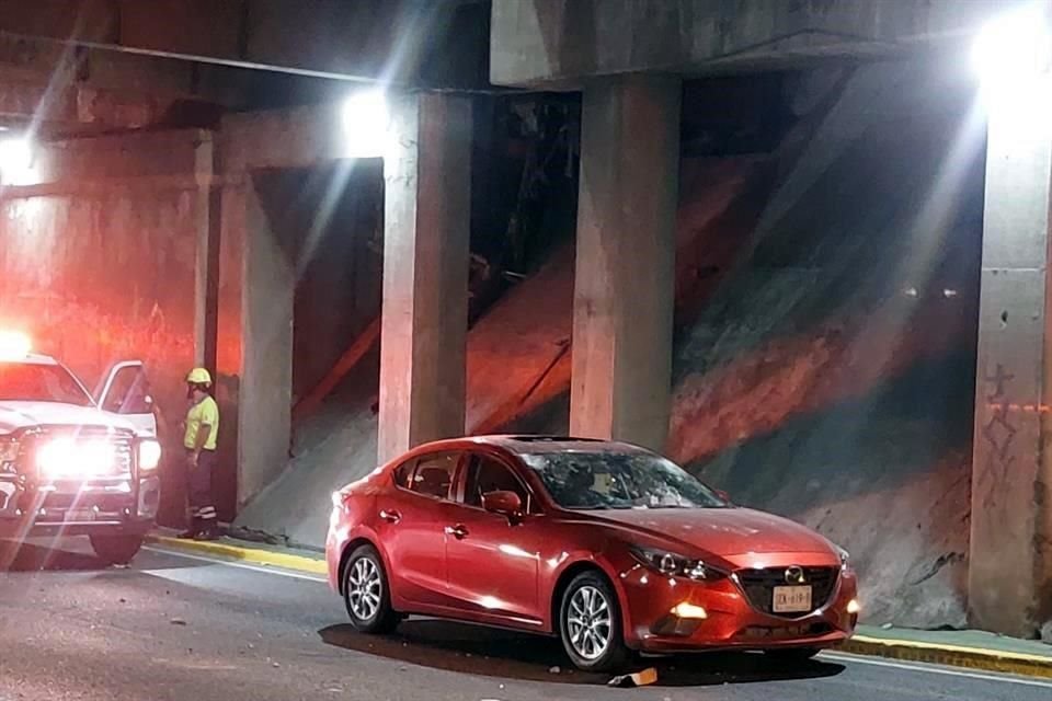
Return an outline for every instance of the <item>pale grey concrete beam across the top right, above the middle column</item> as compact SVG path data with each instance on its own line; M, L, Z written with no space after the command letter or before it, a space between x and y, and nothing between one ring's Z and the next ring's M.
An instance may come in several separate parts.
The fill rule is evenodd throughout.
M1026 0L493 0L490 79L580 88L627 72L771 70L890 58L969 39Z

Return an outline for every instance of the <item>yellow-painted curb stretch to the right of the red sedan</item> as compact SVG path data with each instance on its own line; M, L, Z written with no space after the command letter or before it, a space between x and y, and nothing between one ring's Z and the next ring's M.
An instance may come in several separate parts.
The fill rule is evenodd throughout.
M889 657L903 662L921 662L930 665L967 667L999 674L1052 679L1052 656L1043 657L1025 653L915 641L883 640L866 637L865 635L856 635L836 650L855 655Z

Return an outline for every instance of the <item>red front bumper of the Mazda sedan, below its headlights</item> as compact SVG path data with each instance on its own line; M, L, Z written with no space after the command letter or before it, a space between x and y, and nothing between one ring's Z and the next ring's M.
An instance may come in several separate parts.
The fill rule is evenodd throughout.
M858 622L857 611L848 611L857 597L850 571L838 573L825 601L791 617L755 607L736 575L705 583L637 566L619 578L628 609L626 641L641 652L824 648L850 637Z

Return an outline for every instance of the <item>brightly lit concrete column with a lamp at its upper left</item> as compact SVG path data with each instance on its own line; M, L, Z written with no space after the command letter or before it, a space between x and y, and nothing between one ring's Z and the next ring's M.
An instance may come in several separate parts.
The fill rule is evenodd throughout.
M407 95L391 105L384 163L384 307L377 451L464 433L471 215L471 103Z

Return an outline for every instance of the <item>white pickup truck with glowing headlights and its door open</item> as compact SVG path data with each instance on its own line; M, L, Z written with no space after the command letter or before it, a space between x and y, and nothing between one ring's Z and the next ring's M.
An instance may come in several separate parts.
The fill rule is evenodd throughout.
M126 564L160 504L161 448L141 363L93 397L55 358L0 334L0 539L88 536Z

